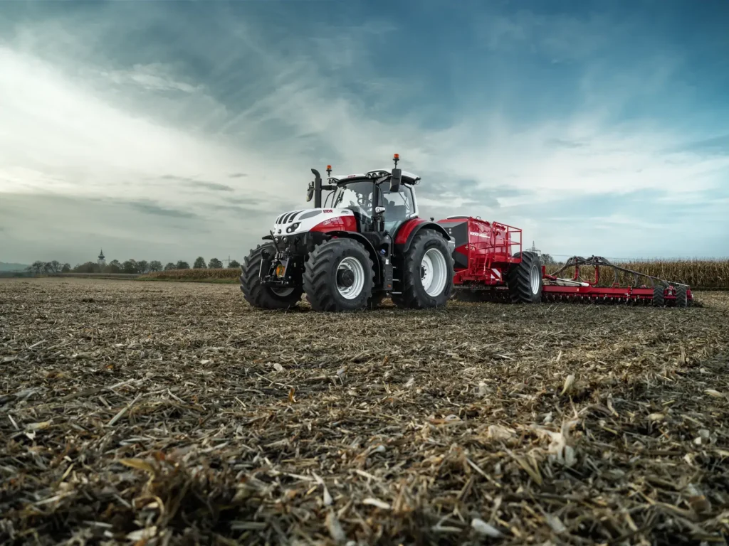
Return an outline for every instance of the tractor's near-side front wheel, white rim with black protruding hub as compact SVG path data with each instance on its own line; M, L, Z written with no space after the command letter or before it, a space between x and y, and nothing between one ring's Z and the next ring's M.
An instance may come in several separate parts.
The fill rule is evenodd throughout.
M303 277L306 299L315 311L364 309L375 286L370 253L362 243L341 237L314 248Z

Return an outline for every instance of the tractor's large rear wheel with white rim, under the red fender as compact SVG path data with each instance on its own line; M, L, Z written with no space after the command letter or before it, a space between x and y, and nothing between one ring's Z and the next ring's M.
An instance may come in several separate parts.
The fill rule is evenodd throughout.
M453 290L453 256L442 235L432 229L416 234L402 270L402 293L392 295L396 306L429 309L448 304Z

